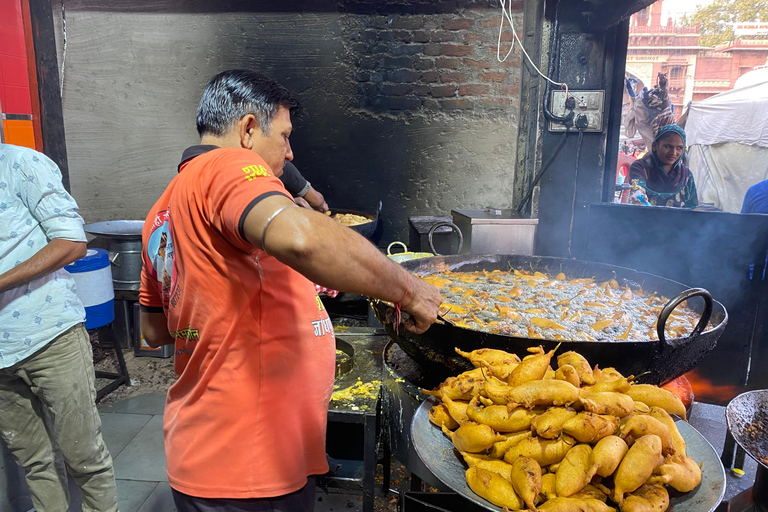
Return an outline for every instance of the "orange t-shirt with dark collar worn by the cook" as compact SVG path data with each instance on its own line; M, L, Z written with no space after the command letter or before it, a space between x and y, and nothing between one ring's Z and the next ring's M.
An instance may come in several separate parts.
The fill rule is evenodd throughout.
M171 486L201 498L281 496L328 471L333 328L314 285L242 234L287 193L246 149L193 146L144 224L140 303L163 308L179 379L164 431Z

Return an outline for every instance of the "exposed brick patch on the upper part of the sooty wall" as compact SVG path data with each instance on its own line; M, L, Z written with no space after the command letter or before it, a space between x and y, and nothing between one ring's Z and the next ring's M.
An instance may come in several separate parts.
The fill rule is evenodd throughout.
M522 1L513 2L515 29ZM371 113L492 112L519 105L520 50L496 57L497 0L393 3L349 0L342 19L357 106ZM512 32L502 34L502 57Z

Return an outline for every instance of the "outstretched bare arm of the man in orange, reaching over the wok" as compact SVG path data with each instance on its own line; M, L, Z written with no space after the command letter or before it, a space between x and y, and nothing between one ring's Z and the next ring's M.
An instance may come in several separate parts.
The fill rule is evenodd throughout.
M279 208L288 206L269 224ZM254 206L243 225L256 247L327 288L400 302L412 319L406 328L424 332L437 318L440 292L381 254L368 240L325 215L295 208L284 196L271 196ZM266 243L264 243L266 242Z

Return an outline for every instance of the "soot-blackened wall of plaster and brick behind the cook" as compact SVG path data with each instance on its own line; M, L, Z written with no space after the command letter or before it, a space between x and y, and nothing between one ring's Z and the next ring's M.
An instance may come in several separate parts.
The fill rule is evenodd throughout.
M513 3L518 30L522 2ZM294 163L331 207L407 217L512 206L520 51L496 0L54 0L72 192L87 222L143 219L231 68L302 98ZM506 53L511 41L502 37Z

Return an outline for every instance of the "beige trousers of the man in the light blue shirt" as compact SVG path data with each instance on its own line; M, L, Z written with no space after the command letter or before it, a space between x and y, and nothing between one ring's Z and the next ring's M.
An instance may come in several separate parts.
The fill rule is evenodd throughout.
M0 369L0 437L24 468L38 512L66 512L67 476L83 512L115 512L112 457L101 437L96 410L93 353L83 324L67 330L33 356ZM55 447L55 448L54 448Z

